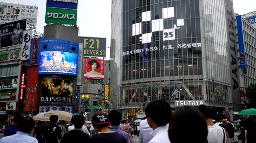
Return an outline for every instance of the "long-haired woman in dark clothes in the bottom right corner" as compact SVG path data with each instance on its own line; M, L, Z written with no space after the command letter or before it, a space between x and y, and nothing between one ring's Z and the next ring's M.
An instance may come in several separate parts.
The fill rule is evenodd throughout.
M238 136L239 140L243 143L255 143L256 142L256 123L252 118L247 118L244 120L244 131Z

